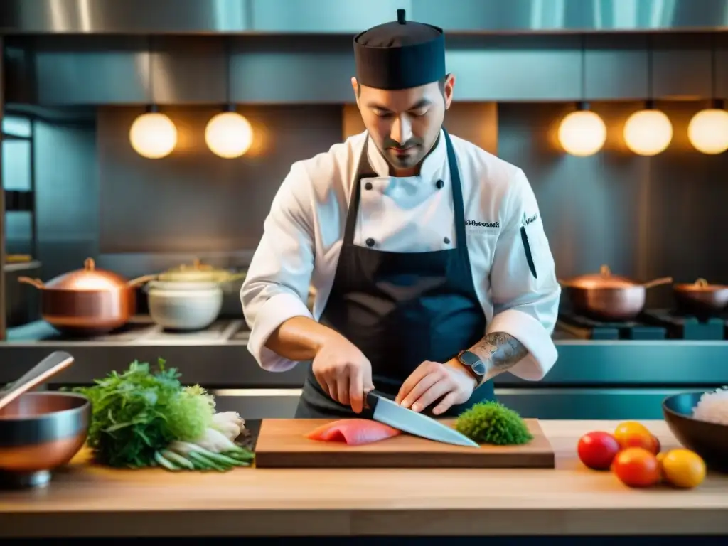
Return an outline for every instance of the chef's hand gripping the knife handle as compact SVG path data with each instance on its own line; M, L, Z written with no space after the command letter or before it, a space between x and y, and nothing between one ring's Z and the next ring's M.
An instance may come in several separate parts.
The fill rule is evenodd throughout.
M333 400L361 413L364 392L374 388L371 363L351 341L338 333L329 337L317 350L312 370Z

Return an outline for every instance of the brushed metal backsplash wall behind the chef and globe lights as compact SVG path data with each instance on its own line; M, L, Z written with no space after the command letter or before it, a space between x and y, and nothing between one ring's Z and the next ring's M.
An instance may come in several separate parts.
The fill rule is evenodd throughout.
M640 280L670 275L728 282L728 155L706 156L687 142L687 122L704 103L657 106L670 116L675 136L653 158L637 157L622 143L625 119L639 103L592 104L609 138L606 149L589 158L569 157L555 143L569 104L502 103L496 113L456 103L459 112L448 122L466 138L484 135L486 149L494 149L497 125L497 153L525 170L537 194L559 277L607 264ZM290 164L325 151L356 124L344 123L342 107L334 105L240 111L258 140L248 156L234 160L213 156L202 140L215 108L167 110L180 145L161 160L143 159L130 147L138 107L100 108L95 125L39 122L35 176L44 280L82 266L87 256L130 276L149 272L140 265L145 260L159 269L194 256L237 253L244 258L236 264L244 265L240 260L250 258ZM11 231L8 237L24 235ZM666 293L654 289L652 298Z

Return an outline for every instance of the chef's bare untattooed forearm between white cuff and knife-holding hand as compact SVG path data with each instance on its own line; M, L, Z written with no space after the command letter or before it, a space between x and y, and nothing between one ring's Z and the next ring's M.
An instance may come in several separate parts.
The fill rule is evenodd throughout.
M266 347L289 360L312 360L320 347L338 332L309 317L291 317L276 328Z

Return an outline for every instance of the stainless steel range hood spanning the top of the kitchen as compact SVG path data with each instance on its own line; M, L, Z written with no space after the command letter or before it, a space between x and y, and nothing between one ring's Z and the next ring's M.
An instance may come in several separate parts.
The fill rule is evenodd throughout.
M400 7L448 31L456 100L728 96L728 0L0 0L5 100L353 103L352 36Z

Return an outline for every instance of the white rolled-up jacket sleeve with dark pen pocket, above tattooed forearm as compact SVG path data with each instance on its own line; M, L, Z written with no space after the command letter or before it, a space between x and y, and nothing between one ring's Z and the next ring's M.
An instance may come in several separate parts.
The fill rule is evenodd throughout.
M491 266L494 317L487 332L504 332L518 339L529 354L510 373L537 381L558 357L551 333L561 287L536 196L522 170L513 178L502 210L504 225Z

